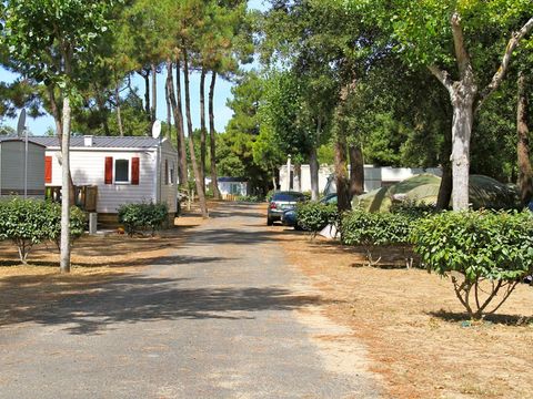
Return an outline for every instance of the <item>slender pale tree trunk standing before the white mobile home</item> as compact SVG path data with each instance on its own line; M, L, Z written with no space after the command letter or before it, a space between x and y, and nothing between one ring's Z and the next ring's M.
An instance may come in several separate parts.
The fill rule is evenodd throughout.
M70 122L71 109L70 99L63 99L62 112L62 137L61 137L61 160L62 160L62 191L61 191L61 244L60 244L60 270L70 273ZM68 190L64 190L69 187Z

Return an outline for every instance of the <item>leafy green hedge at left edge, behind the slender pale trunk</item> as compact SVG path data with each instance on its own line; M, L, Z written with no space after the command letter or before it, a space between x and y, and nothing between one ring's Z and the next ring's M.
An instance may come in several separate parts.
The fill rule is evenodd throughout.
M79 208L72 207L71 239L80 237L84 227L86 215ZM28 255L36 244L44 241L58 244L60 236L60 204L20 198L0 202L0 239L10 239L14 243L23 264L27 264Z

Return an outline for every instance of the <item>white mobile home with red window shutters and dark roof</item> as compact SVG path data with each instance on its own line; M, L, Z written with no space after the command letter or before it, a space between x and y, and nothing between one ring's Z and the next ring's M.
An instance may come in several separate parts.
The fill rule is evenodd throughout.
M61 186L58 137L32 137L46 146L46 185ZM70 171L76 186L97 186L99 219L115 215L122 204L167 203L177 212L178 154L165 139L74 136Z

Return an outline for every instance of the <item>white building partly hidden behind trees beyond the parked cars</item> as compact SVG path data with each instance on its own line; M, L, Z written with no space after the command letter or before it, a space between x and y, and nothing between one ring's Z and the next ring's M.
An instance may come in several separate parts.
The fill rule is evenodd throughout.
M283 165L280 167L280 186L281 190L296 190L301 192L311 191L311 174L309 165L301 165L301 182L294 176L294 166L291 166L291 174L286 173L288 167ZM319 170L319 192L323 193L326 187L329 192L335 192L334 180L330 178L334 173L334 167L330 165L322 165ZM364 165L364 191L371 192L383 186L388 186L405 178L412 177L421 173L431 173L436 176L442 175L439 167L376 167L373 165ZM329 186L330 185L330 186Z

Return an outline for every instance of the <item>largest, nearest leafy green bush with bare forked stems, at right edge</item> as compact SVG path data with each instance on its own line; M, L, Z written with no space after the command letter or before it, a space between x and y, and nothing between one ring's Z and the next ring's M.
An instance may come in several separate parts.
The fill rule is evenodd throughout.
M429 270L451 277L455 295L473 319L496 311L532 273L531 213L444 212L420 219L411 239Z

